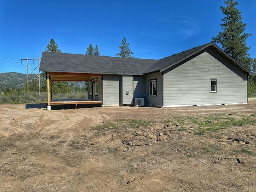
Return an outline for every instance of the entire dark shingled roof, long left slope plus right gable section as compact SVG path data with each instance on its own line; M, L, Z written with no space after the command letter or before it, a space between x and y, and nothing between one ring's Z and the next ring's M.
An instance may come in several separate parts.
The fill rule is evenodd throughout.
M212 42L160 60L43 52L39 69L44 72L143 75L162 72L210 46L244 72L252 74Z

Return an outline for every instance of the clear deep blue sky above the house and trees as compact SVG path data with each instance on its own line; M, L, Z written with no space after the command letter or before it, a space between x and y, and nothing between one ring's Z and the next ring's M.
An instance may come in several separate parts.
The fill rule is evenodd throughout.
M236 2L256 58L256 1ZM41 58L52 38L64 53L85 54L92 44L115 56L125 37L135 58L164 58L211 42L222 31L220 6L224 0L1 0L0 73L26 74L21 59Z

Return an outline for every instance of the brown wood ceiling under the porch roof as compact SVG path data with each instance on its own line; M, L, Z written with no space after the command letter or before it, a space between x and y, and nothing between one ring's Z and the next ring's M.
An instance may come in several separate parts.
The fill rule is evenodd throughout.
M68 73L68 72L47 72L51 81L88 81L90 76L100 77L101 74L93 73Z

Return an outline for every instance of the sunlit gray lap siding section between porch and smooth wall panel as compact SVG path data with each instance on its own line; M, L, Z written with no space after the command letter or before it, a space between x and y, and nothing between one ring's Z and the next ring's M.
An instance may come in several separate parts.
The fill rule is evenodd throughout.
M119 75L102 75L102 106L119 106Z

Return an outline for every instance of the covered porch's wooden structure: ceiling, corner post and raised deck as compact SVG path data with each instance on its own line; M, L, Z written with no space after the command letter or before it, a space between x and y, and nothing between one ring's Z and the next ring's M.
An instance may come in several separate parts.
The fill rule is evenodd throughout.
M69 73L69 72L46 72L47 80L47 110L51 110L51 105L78 105L100 104L102 101L94 99L52 99L52 82L54 81L77 81L88 82L89 77L101 77L102 74L91 73Z

